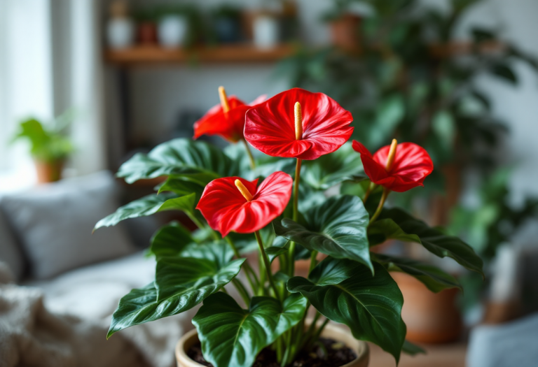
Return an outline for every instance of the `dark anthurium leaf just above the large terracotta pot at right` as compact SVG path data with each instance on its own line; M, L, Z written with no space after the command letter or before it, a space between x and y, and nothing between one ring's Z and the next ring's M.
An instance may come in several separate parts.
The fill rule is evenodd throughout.
M413 277L424 283L432 292L441 292L443 289L462 289L460 282L452 275L445 273L436 266L424 264L412 259L392 257L383 254L375 254L375 261L385 265L387 271L401 271L413 275Z

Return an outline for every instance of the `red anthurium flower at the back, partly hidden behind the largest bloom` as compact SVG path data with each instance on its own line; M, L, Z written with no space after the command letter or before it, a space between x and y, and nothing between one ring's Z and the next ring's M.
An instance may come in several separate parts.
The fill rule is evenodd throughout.
M226 96L223 87L219 87L221 103L213 106L194 124L194 138L202 135L220 135L231 143L243 138L244 114L256 104L265 101L265 95L259 96L250 105L236 96Z

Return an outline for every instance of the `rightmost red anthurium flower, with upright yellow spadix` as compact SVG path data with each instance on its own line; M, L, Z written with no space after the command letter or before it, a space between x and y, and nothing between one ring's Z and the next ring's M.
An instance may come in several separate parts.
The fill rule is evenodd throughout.
M422 182L434 170L428 152L414 143L397 144L394 140L373 156L358 141L353 141L353 149L361 154L364 172L370 180L391 191L406 192L424 186Z

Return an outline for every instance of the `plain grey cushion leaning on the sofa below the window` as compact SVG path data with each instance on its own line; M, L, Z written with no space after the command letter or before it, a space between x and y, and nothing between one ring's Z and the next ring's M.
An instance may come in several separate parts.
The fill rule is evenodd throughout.
M92 234L95 223L118 208L118 190L109 172L5 196L0 206L36 279L133 252L122 226Z

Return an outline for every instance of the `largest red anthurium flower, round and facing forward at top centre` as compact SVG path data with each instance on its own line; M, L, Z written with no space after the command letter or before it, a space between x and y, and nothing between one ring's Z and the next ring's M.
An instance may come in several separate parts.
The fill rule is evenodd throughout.
M323 93L294 88L247 112L244 138L273 157L316 159L350 138L353 117Z

